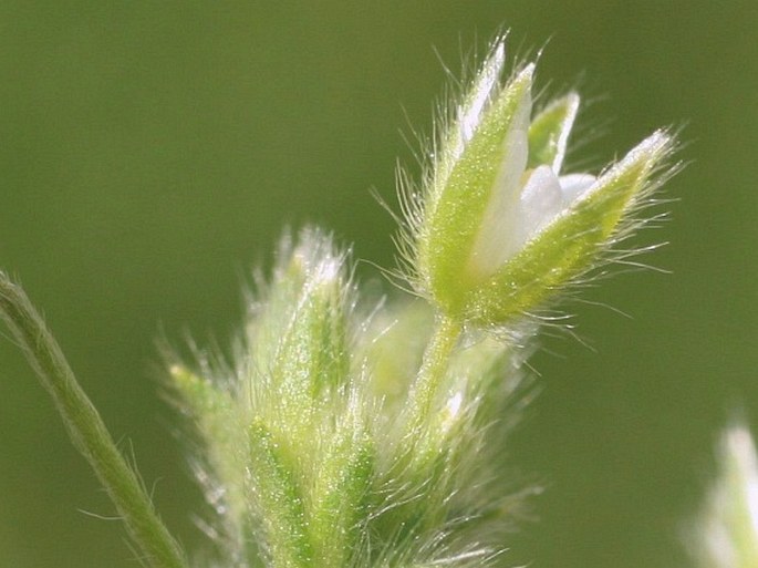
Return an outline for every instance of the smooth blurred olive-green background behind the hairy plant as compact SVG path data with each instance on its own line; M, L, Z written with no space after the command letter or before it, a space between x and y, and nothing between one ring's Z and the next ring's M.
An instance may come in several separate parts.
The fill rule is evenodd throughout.
M160 391L155 339L219 342L240 281L284 224L393 265L397 157L429 132L444 62L512 29L541 86L579 84L602 164L685 126L671 241L573 304L543 340L542 394L512 446L548 490L509 559L688 566L681 534L735 409L758 424L758 2L20 1L0 3L0 266L18 275L167 523L201 546L199 493ZM549 40L549 41L548 41ZM436 51L435 51L436 50ZM405 133L405 134L403 134ZM417 168L416 168L417 169ZM368 264L364 279L376 278ZM0 566L137 566L46 394L0 342Z

